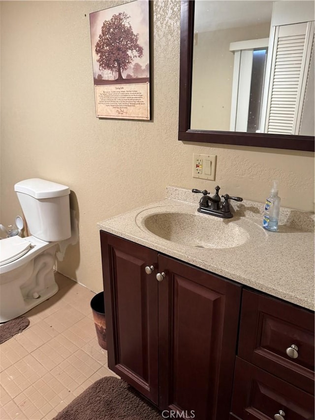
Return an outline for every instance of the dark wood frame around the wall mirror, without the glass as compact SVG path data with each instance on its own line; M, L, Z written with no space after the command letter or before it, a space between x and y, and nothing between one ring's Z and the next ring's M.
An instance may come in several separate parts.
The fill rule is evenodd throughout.
M190 129L194 0L181 1L178 139L202 143L270 147L314 152L314 136Z

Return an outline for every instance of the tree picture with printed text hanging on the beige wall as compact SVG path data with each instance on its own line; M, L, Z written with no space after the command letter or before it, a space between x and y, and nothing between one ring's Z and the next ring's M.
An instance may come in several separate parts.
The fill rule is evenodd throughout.
M149 0L90 13L96 117L150 120Z

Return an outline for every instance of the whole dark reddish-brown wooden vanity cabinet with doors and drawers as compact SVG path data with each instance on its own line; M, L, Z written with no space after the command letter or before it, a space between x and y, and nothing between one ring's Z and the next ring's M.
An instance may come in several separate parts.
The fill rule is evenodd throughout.
M314 420L313 312L100 237L111 370L166 415Z

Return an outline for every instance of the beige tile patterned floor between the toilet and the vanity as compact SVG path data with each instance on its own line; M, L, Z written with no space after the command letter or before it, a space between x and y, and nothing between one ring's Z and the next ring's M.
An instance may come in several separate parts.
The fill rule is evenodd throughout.
M55 278L58 293L27 312L28 328L0 345L1 420L50 420L97 379L117 376L97 343L95 293Z

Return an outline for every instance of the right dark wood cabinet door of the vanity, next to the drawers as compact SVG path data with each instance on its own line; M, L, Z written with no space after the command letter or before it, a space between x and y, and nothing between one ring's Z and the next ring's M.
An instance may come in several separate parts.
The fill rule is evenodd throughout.
M159 408L227 420L241 288L172 258L158 266Z

